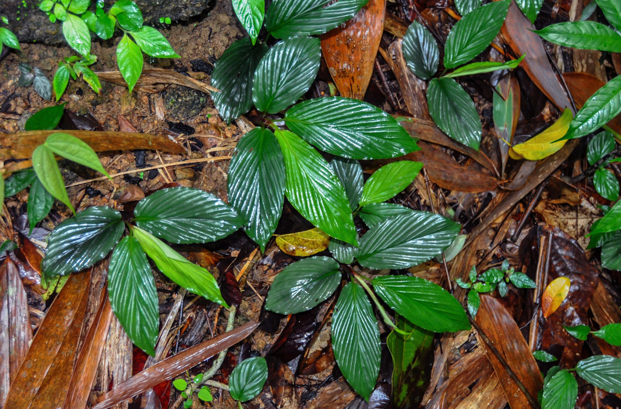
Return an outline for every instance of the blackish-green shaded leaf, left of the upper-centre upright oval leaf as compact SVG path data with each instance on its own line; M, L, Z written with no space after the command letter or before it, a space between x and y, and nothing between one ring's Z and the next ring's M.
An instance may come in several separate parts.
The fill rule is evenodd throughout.
M211 84L220 90L214 92L215 107L227 123L252 108L252 81L256 66L268 51L265 44L255 46L245 37L232 43L215 62Z

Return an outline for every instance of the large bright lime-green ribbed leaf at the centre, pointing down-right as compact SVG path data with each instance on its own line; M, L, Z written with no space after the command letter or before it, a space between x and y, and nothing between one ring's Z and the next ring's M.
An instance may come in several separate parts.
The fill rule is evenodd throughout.
M335 239L356 241L349 201L332 167L296 134L277 130L286 169L286 195L304 218Z

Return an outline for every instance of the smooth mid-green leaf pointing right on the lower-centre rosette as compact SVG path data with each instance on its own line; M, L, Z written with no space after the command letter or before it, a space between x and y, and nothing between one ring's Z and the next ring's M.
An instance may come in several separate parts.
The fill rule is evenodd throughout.
M460 302L431 281L399 275L376 277L371 283L389 307L414 325L433 332L456 332L470 328Z

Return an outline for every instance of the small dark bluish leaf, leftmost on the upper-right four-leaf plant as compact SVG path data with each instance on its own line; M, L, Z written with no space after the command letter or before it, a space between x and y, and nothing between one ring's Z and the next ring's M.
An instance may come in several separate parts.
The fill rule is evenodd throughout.
M438 71L438 61L440 60L438 43L435 42L424 25L416 20L407 28L406 35L403 37L402 48L407 67L412 70L415 76L420 79L429 79Z

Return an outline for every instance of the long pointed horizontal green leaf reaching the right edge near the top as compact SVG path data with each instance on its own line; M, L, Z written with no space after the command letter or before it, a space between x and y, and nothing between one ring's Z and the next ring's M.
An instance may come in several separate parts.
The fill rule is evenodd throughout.
M590 20L550 24L535 33L566 47L621 53L621 35L607 25Z

